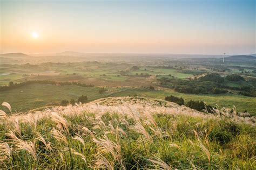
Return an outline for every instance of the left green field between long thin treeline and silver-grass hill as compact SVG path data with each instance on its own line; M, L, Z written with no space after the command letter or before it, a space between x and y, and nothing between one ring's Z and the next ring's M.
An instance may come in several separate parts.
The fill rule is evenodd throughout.
M28 111L39 107L58 105L62 100L77 100L81 95L87 95L88 100L96 100L114 93L116 89L109 89L99 94L98 87L53 86L48 84L30 84L13 90L3 91L0 102L8 102L15 111ZM3 107L1 108L3 109Z

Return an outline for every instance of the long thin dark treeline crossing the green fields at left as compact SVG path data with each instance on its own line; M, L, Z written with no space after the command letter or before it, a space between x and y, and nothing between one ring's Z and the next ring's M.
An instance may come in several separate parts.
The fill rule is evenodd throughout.
M65 86L65 85L76 85L76 86L82 86L82 87L93 87L92 84L83 84L78 82L55 82L55 81L49 81L49 80L32 80L32 81L24 81L21 83L14 83L9 82L8 86L0 86L0 91L6 91L11 89L16 89L18 87L27 86L29 84L51 84L51 85L58 85L58 86Z

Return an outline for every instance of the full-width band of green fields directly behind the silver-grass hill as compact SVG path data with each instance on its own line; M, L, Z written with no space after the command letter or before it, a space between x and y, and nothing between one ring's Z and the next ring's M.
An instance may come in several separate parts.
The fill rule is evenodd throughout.
M183 97L185 103L189 100L203 100L207 104L218 104L220 107L237 107L238 111L247 110L256 115L256 98L241 95L189 95L177 93L171 89L149 90L146 88L107 88L104 94L99 94L99 87L79 86L53 86L47 84L31 84L13 90L3 91L0 94L0 102L8 102L17 111L28 111L47 105L58 105L62 100L75 100L80 95L87 95L89 101L109 96L133 96L164 99L167 95ZM3 108L2 108L3 109Z

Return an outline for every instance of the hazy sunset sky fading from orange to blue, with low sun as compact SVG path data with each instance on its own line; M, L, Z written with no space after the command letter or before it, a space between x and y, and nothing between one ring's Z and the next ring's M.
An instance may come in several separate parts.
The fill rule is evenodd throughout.
M256 53L256 0L0 0L0 53Z

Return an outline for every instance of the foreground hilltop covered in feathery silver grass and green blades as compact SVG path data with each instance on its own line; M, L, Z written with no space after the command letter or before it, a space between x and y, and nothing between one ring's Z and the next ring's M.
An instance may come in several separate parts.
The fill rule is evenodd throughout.
M255 126L227 112L208 115L145 97L2 111L0 167L255 169Z

